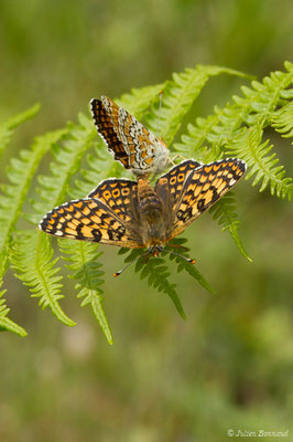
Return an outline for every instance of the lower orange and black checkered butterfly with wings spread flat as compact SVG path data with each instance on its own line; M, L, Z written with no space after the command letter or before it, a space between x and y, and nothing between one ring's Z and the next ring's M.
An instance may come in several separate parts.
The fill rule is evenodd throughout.
M240 159L200 165L185 160L162 175L155 186L139 178L106 179L87 198L66 202L40 222L55 236L148 249L158 256L164 244L182 233L246 171Z

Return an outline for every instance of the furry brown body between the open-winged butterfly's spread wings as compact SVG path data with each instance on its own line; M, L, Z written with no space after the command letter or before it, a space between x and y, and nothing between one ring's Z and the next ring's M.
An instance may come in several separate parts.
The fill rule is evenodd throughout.
M165 224L163 203L155 190L143 179L138 182L138 209L140 214L140 233L146 248L163 244Z

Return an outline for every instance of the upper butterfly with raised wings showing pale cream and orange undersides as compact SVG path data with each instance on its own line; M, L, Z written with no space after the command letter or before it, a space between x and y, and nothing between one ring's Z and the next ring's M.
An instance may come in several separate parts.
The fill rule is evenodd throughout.
M160 173L169 161L166 145L123 107L106 96L90 101L98 134L124 168L140 178Z

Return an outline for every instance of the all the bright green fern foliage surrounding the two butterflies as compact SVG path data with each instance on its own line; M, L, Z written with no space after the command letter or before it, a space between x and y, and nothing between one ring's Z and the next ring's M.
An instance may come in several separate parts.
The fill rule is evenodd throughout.
M193 125L187 126L186 133L182 127L183 119L185 120L208 78L221 73L239 76L243 74L224 67L199 65L174 74L164 84L133 90L130 94L122 95L118 103L140 119L145 116L146 126L154 131L159 123L160 129L162 128L162 134L159 135L169 145L181 128L181 143L170 146L174 152L205 162L225 156L239 157L248 164L246 179L252 178L252 186L260 185L260 191L269 188L271 194L290 200L292 178L285 177L284 167L276 158L267 134L268 127L275 130L276 136L280 133L289 138L293 134L293 65L285 63L285 72L271 73L262 82L252 81L251 87L242 86L242 95L234 96L232 104L228 103L223 108L215 107L215 113L206 118L196 118ZM163 103L159 109L161 90ZM35 112L36 107L33 107L1 126L2 148L10 140L13 127ZM48 167L41 164L43 158ZM64 296L63 285L62 276L58 275L58 257L53 257L52 239L37 231L36 224L53 207L70 198L85 197L99 180L127 175L129 172L112 160L105 144L97 138L89 116L80 114L77 124L67 124L63 129L35 138L30 149L21 150L18 158L10 159L7 182L1 186L0 277L2 278L10 265L17 277L29 286L32 296L39 297L43 308L50 306L62 323L73 326L74 322L59 305L59 299ZM223 231L230 233L240 253L251 261L239 238L240 222L231 193L223 198L211 211ZM22 230L25 222L33 229ZM138 259L134 271L140 274L140 278L148 280L149 286L167 294L180 315L185 318L176 284L170 281L171 271L166 259L173 261L177 272L185 271L206 290L213 293L214 290L197 267L184 260L183 256L188 256L185 240L175 239L172 243L166 245L160 259L146 253ZM77 297L83 298L82 306L90 305L106 338L112 344L112 335L102 308L104 272L99 262L99 245L63 240L58 242L58 246L68 262L68 275L76 281L75 290ZM126 250L121 250L120 253L124 252ZM132 250L128 253L126 263L139 257L141 253ZM3 293L2 291L0 295ZM25 332L8 319L8 312L4 301L1 299L0 327L24 336Z

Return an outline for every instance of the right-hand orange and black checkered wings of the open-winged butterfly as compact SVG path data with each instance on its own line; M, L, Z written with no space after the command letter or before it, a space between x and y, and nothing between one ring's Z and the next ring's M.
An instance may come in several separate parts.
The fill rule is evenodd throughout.
M210 208L228 192L246 171L240 159L225 159L191 169L194 161L187 160L162 176L156 191L162 196L170 213L166 221L167 241L177 236L199 214ZM169 197L170 196L170 197Z

